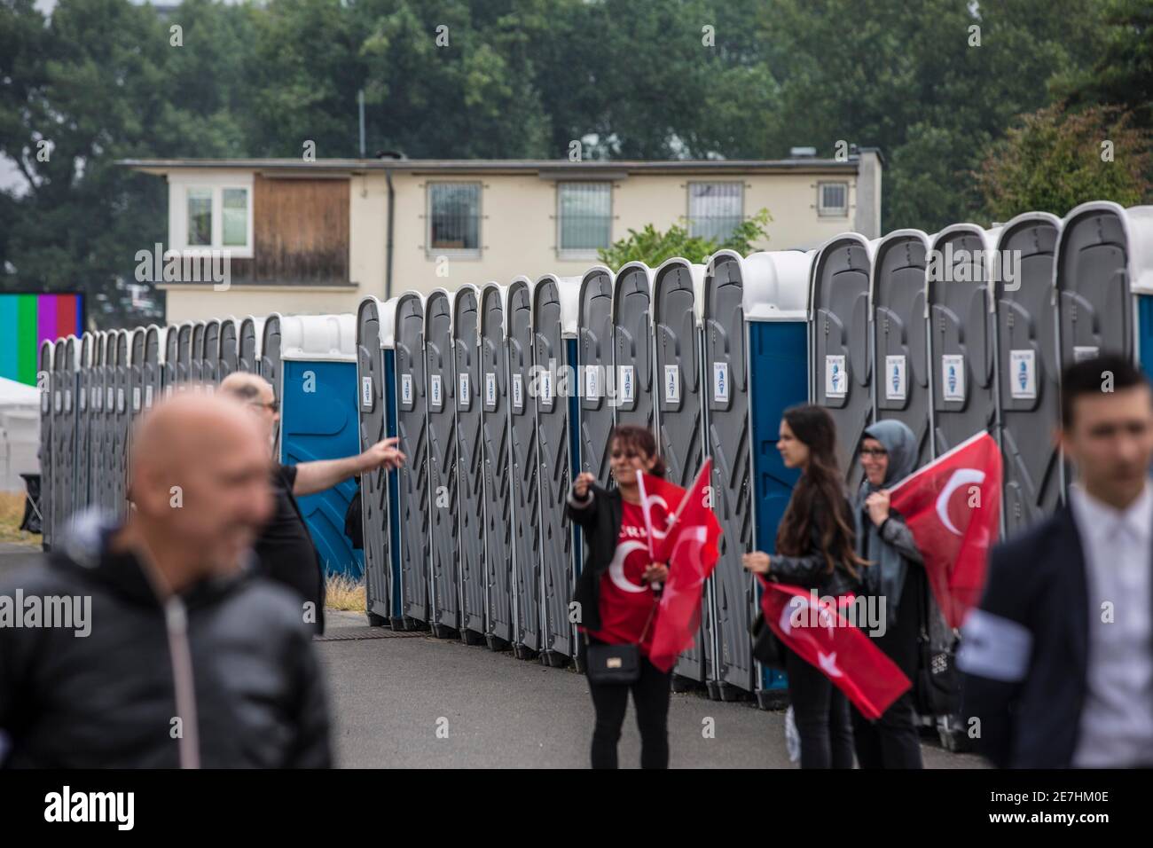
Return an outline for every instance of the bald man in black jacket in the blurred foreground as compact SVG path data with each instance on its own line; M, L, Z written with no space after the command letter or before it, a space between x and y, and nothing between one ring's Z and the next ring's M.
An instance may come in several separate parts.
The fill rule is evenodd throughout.
M178 395L137 423L126 523L86 513L46 568L0 585L0 764L330 765L299 603L244 568L267 480L231 400Z

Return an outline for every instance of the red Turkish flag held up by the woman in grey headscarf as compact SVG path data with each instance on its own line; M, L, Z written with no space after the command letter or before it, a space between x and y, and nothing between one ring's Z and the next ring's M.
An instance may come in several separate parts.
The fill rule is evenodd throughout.
M979 433L889 489L889 505L913 532L949 626L981 599L1001 516L1001 451Z

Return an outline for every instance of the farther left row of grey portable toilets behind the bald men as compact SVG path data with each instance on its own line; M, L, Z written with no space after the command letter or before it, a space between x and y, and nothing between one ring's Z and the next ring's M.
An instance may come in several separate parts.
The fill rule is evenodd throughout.
M233 372L264 375L281 406L282 463L357 451L355 327L351 315L247 317L85 332L40 347L44 545L89 506L123 517L131 427L182 384L212 387ZM340 415L344 414L344 419ZM300 498L330 571L356 578L362 555L345 535L355 481Z

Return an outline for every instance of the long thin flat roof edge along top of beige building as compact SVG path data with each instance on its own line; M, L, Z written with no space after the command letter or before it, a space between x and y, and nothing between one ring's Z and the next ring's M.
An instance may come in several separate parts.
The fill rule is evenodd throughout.
M568 162L567 159L118 159L118 165L152 174L195 168L238 168L303 175L325 172L330 175L368 171L410 173L537 173L543 179L573 179L578 174L601 179L643 173L856 173L860 160L853 155L837 159L671 159L661 162Z

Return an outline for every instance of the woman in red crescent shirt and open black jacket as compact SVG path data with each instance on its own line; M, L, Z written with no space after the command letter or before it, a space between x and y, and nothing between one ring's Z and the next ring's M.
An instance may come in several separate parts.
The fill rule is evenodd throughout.
M662 476L656 440L643 427L617 427L610 437L616 489L578 475L568 515L585 531L588 556L573 601L583 631L581 665L596 712L593 767L617 767L617 742L632 690L641 734L641 767L669 767L670 671L653 665L654 618L669 568L649 556L641 473Z

